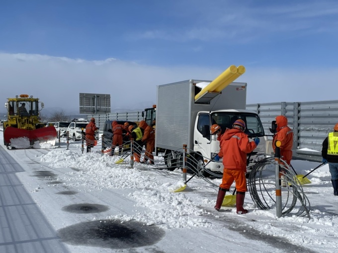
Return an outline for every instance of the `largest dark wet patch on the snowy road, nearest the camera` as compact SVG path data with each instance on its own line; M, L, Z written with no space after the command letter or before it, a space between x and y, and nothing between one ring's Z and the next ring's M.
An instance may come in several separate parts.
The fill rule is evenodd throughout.
M151 246L165 235L163 229L143 223L116 220L82 222L60 229L62 242L109 249L128 249Z

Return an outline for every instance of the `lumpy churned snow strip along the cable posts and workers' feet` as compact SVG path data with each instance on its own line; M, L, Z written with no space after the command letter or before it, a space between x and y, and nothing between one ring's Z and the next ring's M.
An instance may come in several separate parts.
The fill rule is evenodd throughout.
M303 190L311 202L309 219L297 216L277 218L273 202L269 203L272 209L259 210L249 193L245 199L248 214L237 215L235 207L222 207L221 212L216 212L213 206L221 179L209 179L214 183L210 185L202 178L196 177L189 181L189 190L173 192L184 185L181 171L159 170L151 166L131 169L129 158L123 164L115 164L120 157L102 156L99 152L81 154L80 146L76 145L72 150L53 149L40 159L41 162L49 163L50 167L59 170L72 168L71 172L60 178L66 182L67 187L77 187L84 191L127 190L129 193L124 197L135 201L136 213L121 212L107 216L108 219L121 222L140 221L165 229L213 230L218 229L217 224L223 219L239 220L243 230L254 229L258 233L284 238L294 245L305 246L318 252L338 250L338 198L333 195L328 165L313 171L308 176L312 183L303 185ZM313 164L306 164L306 161L301 162L301 168L300 162L292 163L299 174L306 174L315 167ZM297 208L299 204L298 207L296 205L295 209Z

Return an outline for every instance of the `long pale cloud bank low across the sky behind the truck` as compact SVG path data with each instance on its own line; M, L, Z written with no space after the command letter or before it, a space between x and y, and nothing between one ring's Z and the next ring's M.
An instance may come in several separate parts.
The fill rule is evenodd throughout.
M207 64L206 64L207 65ZM157 67L117 59L86 61L46 55L0 53L0 101L18 94L39 97L45 107L79 108L79 93L111 95L112 108L143 108L156 102L156 85L213 80L223 68ZM338 69L251 68L247 103L336 100ZM148 104L148 105L147 105Z

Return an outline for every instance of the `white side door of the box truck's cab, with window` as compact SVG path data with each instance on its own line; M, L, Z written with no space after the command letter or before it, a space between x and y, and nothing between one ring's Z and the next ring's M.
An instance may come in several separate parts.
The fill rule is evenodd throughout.
M210 157L210 135L203 137L203 126L209 126L210 129L210 114L201 113L197 115L197 120L194 128L194 151L200 152L203 157ZM209 131L210 133L210 131Z

